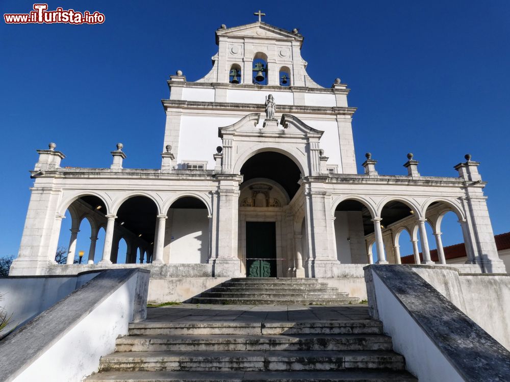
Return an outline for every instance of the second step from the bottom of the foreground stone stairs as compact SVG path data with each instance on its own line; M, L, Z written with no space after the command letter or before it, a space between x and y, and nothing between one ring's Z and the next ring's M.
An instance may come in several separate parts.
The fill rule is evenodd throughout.
M393 351L127 351L101 358L99 371L403 370Z

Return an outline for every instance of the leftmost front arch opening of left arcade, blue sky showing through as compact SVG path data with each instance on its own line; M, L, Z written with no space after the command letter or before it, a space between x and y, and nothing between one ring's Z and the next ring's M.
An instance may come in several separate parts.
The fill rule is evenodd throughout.
M49 257L58 264L86 264L97 253L97 230L106 221L105 203L93 195L75 199L66 209L60 224L57 250ZM82 256L80 256L82 255Z

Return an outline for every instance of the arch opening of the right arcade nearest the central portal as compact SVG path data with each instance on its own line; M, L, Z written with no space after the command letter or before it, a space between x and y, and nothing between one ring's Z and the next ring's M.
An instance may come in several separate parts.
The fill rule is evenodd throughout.
M347 199L335 208L335 242L337 259L344 264L366 264L369 262L365 236L374 232L372 214L365 204ZM370 248L368 248L370 250ZM376 246L372 256L377 259Z

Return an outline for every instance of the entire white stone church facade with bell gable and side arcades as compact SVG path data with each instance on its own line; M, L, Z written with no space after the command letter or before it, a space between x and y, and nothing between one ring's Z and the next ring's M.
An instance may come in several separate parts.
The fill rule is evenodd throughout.
M10 275L142 262L151 274L169 277L335 278L353 267L362 272L375 253L378 263L400 263L403 230L417 263L422 252L423 263L433 265L425 224L445 264L441 222L449 211L458 217L468 258L455 266L505 273L478 162L466 155L455 166L457 177L425 177L409 154L407 175L390 176L378 174L367 153L358 174L349 89L339 78L330 88L310 78L297 30L260 20L222 25L216 43L205 77L170 76L161 168L124 168L122 144L110 168L61 167L65 156L55 144L38 150ZM67 210L68 263L57 264ZM90 245L83 264L73 264L84 219ZM106 231L101 253L100 229ZM120 239L127 243L125 264L117 263Z

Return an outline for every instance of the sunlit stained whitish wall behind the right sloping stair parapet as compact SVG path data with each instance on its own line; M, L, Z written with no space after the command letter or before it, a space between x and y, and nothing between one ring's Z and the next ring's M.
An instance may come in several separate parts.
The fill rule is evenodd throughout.
M510 275L466 275L447 266L413 270L510 349Z

